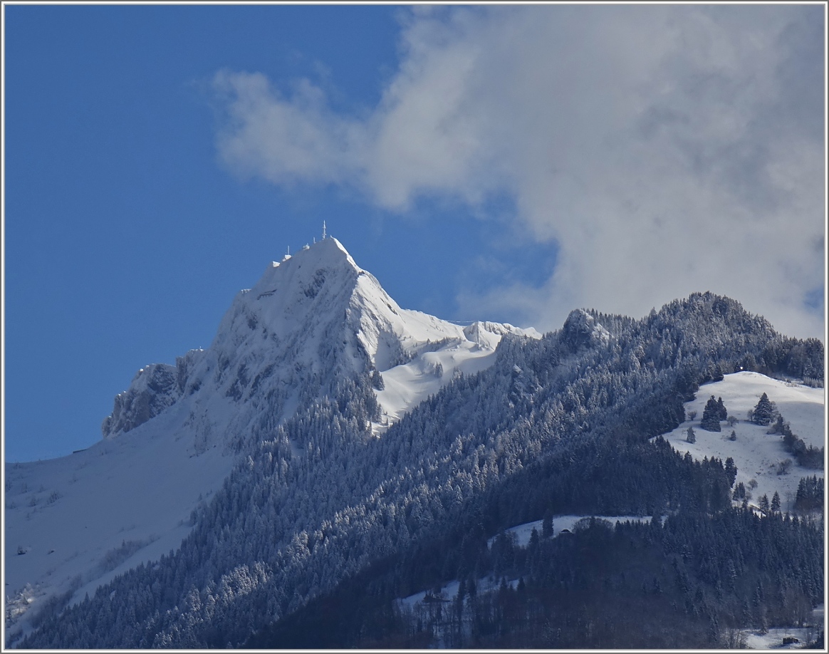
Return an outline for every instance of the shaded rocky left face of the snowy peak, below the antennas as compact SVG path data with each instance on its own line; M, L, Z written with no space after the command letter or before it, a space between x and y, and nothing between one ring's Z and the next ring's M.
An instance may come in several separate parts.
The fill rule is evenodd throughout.
M249 431L262 405L272 426L303 392L318 395L340 376L368 370L370 357L351 324L359 320L352 305L363 274L333 239L270 264L254 288L236 295L207 350L138 371L104 419L104 437L135 429L184 398L189 419L182 427L191 431L219 433L230 424L235 434ZM233 409L248 400L250 407Z

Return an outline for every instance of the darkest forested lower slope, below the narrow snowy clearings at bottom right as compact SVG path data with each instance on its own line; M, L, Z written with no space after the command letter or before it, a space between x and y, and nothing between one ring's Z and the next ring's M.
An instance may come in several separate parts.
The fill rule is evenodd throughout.
M395 591L423 555L386 560L246 647L739 647L741 629L806 624L823 592L822 524L745 509L588 518L479 551L453 597L437 582L406 606Z

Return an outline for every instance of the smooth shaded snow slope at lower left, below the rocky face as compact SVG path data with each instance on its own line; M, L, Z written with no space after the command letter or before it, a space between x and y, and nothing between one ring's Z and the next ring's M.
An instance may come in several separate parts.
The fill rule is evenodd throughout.
M68 457L7 464L3 580L17 613L7 642L49 596L91 596L181 544L191 511L221 487L232 459L221 446L196 456L192 438L163 429L174 417Z

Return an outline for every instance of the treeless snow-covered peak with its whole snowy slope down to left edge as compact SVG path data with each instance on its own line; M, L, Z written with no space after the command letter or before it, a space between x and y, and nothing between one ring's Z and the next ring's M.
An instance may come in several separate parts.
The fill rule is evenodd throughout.
M455 371L490 365L506 333L539 336L401 309L335 239L269 264L237 294L209 348L138 371L104 419L104 440L7 465L7 639L47 598L81 599L175 549L240 444L267 438L338 380L381 373L379 435Z

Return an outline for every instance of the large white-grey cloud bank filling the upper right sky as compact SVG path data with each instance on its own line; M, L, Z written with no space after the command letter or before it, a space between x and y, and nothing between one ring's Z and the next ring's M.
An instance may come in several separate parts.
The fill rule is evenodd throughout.
M283 98L221 72L218 147L240 174L421 194L507 193L559 259L541 288L464 303L557 327L575 306L644 315L725 293L823 333L822 7L543 6L412 12L367 117L307 81Z

